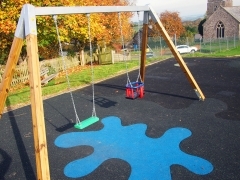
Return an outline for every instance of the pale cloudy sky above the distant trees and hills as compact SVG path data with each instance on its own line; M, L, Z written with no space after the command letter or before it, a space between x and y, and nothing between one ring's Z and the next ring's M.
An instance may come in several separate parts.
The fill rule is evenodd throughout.
M157 14L166 10L179 12L182 19L204 15L207 11L207 0L136 0L137 6L149 4ZM233 6L240 6L240 0L233 0ZM133 18L137 20L137 17Z

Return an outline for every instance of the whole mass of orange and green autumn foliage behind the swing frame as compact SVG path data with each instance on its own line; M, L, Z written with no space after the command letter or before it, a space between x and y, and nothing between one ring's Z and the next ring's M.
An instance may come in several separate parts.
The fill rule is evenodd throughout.
M14 32L24 4L36 7L46 6L126 6L127 0L8 0L0 6L0 63L5 63L14 38ZM129 39L132 34L131 13L121 13L123 34ZM120 39L117 13L93 13L91 20L91 38L99 46L111 45ZM79 51L89 43L88 19L85 14L59 15L57 23L61 42L75 42ZM58 56L59 46L56 28L52 16L37 16L39 56L47 59ZM24 47L21 53L26 56Z

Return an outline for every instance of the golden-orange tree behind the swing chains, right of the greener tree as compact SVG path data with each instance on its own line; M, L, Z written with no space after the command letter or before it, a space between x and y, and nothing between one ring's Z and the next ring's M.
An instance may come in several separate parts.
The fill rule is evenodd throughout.
M126 6L128 1L125 0L95 0L95 1L75 1L77 6ZM131 13L121 13L122 29L125 39L129 39L132 34L130 24ZM95 48L100 46L113 45L116 41L120 41L119 21L117 13L93 13L89 19L86 15L67 15L61 16L60 27L62 39L64 42L74 43L75 51L80 55L83 54L85 48L89 48L88 20L91 22L91 39ZM65 38L65 39L64 39ZM80 56L82 61L84 58ZM85 62L82 62L83 64Z

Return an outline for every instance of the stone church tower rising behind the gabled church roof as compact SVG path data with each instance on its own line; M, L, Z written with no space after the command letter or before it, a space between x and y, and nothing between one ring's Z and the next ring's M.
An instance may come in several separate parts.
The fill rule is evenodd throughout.
M208 0L207 3L207 17L211 16L219 6L231 7L232 0Z

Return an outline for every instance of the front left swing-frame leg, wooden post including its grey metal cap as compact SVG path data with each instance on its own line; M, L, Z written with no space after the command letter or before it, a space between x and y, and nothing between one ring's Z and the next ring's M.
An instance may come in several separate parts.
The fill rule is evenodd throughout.
M28 71L31 97L34 149L36 157L37 179L49 180L49 162L47 151L46 129L43 111L42 87L37 44L36 9L30 4L23 6L20 19L23 19L19 35L24 34L27 44ZM23 28L23 30L21 30ZM24 33L21 33L21 32Z

